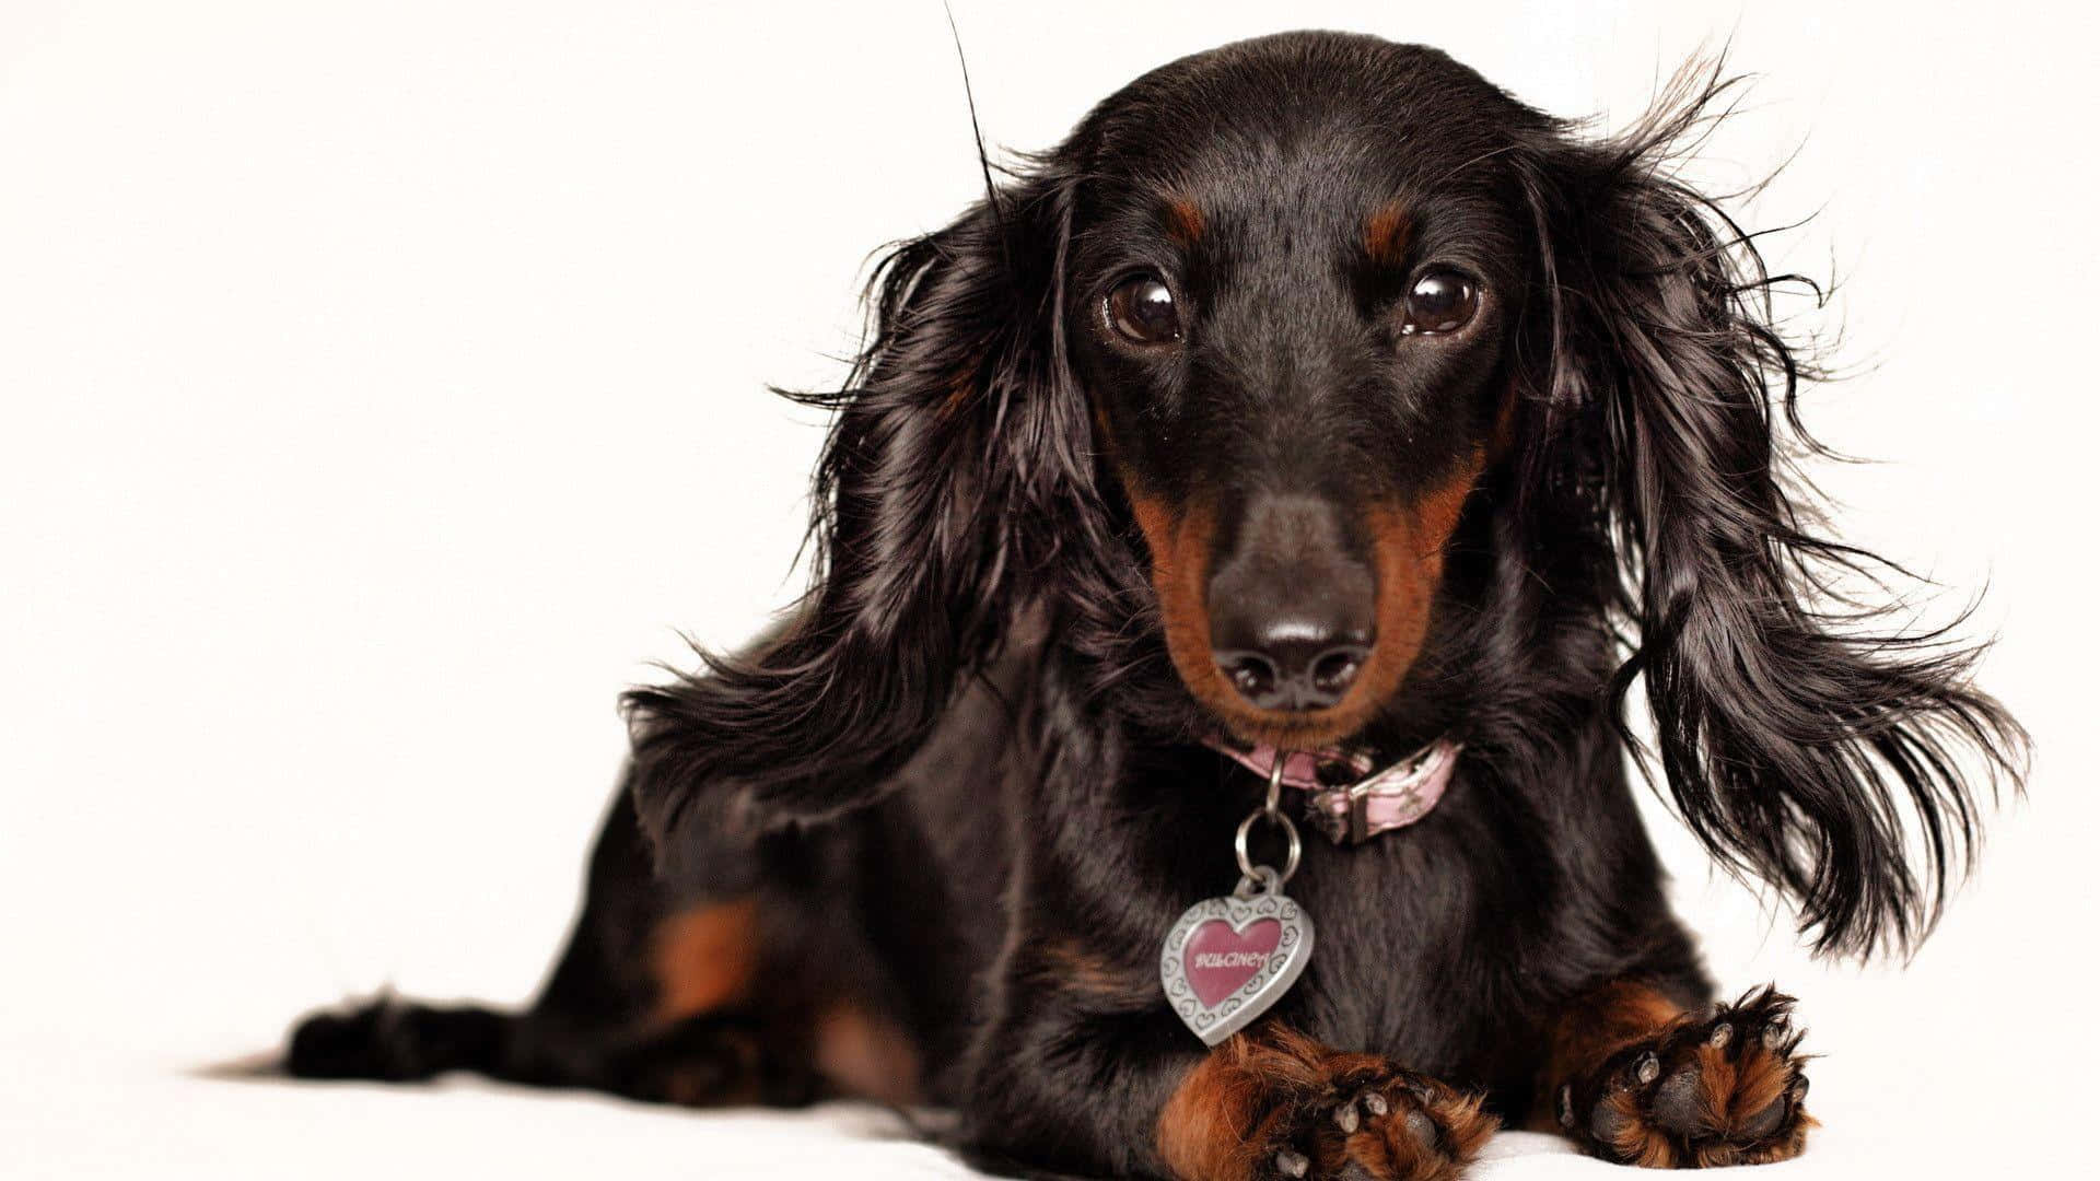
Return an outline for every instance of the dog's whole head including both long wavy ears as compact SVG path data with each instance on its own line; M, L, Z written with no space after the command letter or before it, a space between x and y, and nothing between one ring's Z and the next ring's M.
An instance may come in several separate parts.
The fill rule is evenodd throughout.
M1976 822L1961 763L2018 729L1966 654L1821 597L1858 551L1785 479L1774 279L1665 168L1722 88L1586 139L1436 50L1287 34L1100 103L884 261L813 397L819 582L775 643L630 698L645 828L674 841L708 778L865 801L1046 618L1094 668L1056 717L1163 693L1180 721L1144 725L1184 740L1317 746L1464 683L1457 723L1548 773L1642 677L1709 849L1827 948L1919 933Z

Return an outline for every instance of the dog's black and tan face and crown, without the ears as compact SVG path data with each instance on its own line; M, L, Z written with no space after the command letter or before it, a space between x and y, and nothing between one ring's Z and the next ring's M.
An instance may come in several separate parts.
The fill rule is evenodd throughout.
M1168 651L1239 738L1319 746L1401 689L1508 443L1544 122L1371 38L1149 74L1067 145L1075 387Z

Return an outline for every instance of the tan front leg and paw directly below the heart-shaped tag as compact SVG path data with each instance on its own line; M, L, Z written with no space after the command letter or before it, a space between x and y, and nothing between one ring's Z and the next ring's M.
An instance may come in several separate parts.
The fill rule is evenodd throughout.
M1182 1181L1457 1177L1495 1131L1480 1095L1285 1028L1228 1038L1159 1114Z

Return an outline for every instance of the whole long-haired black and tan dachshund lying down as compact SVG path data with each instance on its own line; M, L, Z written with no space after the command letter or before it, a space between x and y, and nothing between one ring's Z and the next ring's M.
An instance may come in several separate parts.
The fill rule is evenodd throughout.
M880 265L815 586L628 693L538 1002L315 1015L288 1070L863 1095L1031 1173L1800 1154L1791 1000L1714 1002L1628 754L1873 954L2022 735L1840 595L1882 567L1789 475L1781 277L1667 170L1724 88L1596 139L1289 34L1109 97Z

